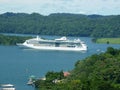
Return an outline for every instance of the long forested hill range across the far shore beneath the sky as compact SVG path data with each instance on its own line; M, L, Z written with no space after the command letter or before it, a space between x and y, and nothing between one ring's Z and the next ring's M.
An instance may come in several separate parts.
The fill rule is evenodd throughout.
M0 15L1 33L40 35L120 37L120 15L80 15L4 13Z

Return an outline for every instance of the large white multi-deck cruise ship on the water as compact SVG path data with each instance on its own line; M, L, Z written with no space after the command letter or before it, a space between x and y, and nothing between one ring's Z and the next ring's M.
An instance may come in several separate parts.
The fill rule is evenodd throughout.
M36 38L28 39L24 43L18 43L17 45L40 50L64 50L64 51L87 50L87 45L80 39L70 40L67 39L67 37L65 36L54 40L43 39L37 36Z

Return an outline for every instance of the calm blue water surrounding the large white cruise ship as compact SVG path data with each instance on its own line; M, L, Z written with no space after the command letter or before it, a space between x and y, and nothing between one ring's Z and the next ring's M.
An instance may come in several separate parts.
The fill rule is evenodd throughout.
M109 46L120 48L120 45L95 44L87 37L80 39L88 45L87 52L40 51L21 49L18 46L0 46L0 84L11 83L16 90L34 90L26 84L31 75L39 78L44 77L48 71L69 71L74 68L77 60L104 52Z

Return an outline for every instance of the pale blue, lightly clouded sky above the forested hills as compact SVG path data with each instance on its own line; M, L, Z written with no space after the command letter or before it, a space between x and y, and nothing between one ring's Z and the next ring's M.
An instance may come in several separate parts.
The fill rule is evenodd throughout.
M0 14L6 12L120 15L120 0L0 0Z

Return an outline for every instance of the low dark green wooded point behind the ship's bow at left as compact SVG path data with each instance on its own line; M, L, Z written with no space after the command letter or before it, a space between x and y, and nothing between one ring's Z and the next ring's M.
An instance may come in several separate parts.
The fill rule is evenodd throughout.
M16 43L23 43L29 38L31 37L0 35L0 45L16 45Z

